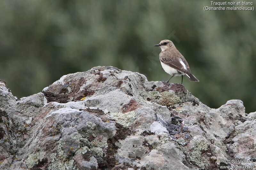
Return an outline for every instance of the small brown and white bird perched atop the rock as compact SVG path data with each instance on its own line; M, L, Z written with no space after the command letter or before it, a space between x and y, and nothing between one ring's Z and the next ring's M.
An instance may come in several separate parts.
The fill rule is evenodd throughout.
M172 41L163 40L155 46L161 48L162 51L159 54L159 59L164 71L170 74L172 76L171 78L173 78L173 76L182 76L181 84L183 75L186 75L190 81L199 81L193 74L191 74L188 62L183 55L180 54ZM169 82L171 78L166 82Z

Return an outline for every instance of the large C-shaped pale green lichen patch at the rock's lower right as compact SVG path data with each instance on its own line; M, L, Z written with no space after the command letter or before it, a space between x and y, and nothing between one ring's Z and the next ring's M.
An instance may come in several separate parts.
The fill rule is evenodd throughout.
M195 162L200 168L205 168L209 166L209 161L202 157L202 151L208 150L208 142L205 138L200 138L196 141L196 144L191 148L190 160Z

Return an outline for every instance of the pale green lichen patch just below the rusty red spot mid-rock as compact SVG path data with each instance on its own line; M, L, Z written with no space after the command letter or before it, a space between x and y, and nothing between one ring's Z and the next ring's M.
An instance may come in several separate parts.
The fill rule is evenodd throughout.
M128 127L135 120L135 112L127 112L127 113L110 113L109 114L112 119L115 119L117 123L123 125L124 127Z

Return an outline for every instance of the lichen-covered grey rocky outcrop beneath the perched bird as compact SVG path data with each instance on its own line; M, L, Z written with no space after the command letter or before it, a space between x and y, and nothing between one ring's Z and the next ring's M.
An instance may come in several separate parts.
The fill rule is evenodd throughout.
M115 67L68 74L17 100L0 81L0 169L219 169L256 161L256 112ZM247 164L246 164L247 165ZM252 163L253 165L253 163Z

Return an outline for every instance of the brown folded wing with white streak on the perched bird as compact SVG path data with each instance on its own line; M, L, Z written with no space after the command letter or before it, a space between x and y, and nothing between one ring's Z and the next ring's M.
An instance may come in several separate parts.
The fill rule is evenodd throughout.
M178 53L162 52L159 54L160 61L169 65L170 67L177 69L183 73L190 74L188 62L186 59Z

